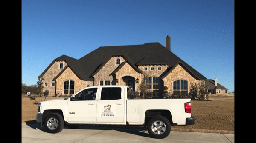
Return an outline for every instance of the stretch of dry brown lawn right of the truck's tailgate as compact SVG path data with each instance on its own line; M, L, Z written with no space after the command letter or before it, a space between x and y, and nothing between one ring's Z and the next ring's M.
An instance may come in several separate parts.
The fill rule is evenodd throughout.
M172 126L172 131L215 132L227 134L235 132L234 98L210 98L206 101L191 101L195 124L189 126ZM223 133L220 132L220 133Z

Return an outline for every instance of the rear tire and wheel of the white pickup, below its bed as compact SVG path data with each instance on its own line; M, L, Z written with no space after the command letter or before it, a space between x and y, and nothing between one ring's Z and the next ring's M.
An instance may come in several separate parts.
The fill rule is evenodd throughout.
M152 117L148 121L148 133L151 137L163 139L167 137L171 132L171 124L163 116Z

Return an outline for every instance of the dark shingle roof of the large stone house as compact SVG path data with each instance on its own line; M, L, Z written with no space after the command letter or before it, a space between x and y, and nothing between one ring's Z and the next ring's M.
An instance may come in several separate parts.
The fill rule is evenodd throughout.
M170 68L175 66L179 61L182 62L193 74L200 80L206 78L181 60L171 51L166 49L160 43L145 43L143 45L127 45L127 46L105 46L90 52L89 54L76 60L72 57L62 55L55 60L66 60L69 66L79 75L81 79L93 80L91 76L97 69L111 56L125 55L128 60L135 66L141 64L152 63L168 63ZM49 67L49 66L48 66ZM43 72L44 73L44 72Z

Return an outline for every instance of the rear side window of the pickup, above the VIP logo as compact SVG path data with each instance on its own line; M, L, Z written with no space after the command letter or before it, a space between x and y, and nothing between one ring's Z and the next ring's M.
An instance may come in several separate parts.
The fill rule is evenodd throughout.
M102 88L100 100L116 100L116 99L121 99L120 87Z

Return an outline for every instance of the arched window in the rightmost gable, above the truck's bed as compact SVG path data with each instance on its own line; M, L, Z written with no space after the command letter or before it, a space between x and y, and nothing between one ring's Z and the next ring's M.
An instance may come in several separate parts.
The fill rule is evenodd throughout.
M173 93L175 95L182 94L188 92L188 82L186 80L176 80L173 82Z

